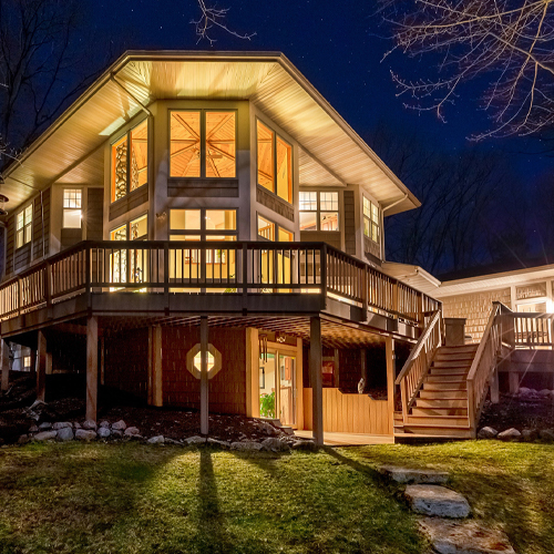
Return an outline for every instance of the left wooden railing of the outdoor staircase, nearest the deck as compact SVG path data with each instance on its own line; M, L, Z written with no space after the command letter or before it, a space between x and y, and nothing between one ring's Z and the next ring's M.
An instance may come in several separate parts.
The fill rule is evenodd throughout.
M423 329L416 347L410 352L394 384L400 386L402 400L402 420L408 423L408 416L416 397L418 396L429 368L433 361L434 352L442 343L442 312L432 312L429 324Z

